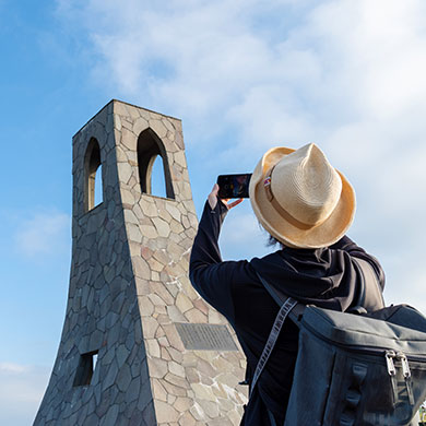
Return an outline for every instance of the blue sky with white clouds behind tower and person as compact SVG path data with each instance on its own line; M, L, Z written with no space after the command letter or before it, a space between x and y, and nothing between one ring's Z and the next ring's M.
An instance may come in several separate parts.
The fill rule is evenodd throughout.
M182 119L200 213L216 176L318 143L357 191L350 236L388 303L426 312L422 0L0 0L0 424L28 425L70 269L71 138L111 98ZM225 258L261 256L249 202Z

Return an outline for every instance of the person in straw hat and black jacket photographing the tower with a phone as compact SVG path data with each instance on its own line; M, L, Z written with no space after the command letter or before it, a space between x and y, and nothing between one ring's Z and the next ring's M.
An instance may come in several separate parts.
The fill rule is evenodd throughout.
M259 276L301 304L346 311L359 305L363 276L354 259L362 259L374 270L367 289L380 294L368 308L382 307L382 268L346 236L355 214L355 191L316 144L273 147L251 176L252 210L270 239L281 245L273 253L250 261L222 260L217 242L222 223L242 200L222 200L218 189L215 185L205 202L189 275L198 293L234 328L247 358L249 384L280 309ZM241 426L284 424L297 350L298 328L287 319L250 393Z

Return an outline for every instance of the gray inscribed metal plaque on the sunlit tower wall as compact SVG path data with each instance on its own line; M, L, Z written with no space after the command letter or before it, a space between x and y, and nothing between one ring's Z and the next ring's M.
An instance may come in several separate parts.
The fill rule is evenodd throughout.
M226 326L177 322L176 329L186 350L238 351Z

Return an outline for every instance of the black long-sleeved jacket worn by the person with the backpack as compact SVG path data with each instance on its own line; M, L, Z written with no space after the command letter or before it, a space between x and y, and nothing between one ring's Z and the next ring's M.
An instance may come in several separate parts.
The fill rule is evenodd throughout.
M257 272L272 286L304 304L346 310L357 300L360 276L353 257L374 267L380 285L384 275L378 261L348 237L320 249L284 248L251 261L222 261L217 239L227 208L205 203L190 259L190 280L199 294L233 326L247 357L250 379L271 331L279 306L260 283ZM287 320L258 386L246 407L241 425L270 425L267 407L277 424L284 423L298 329Z

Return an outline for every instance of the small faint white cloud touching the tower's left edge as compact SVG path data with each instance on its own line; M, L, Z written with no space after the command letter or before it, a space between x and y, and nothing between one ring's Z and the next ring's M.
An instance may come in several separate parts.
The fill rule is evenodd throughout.
M69 250L70 217L64 213L36 213L22 221L14 236L15 247L34 257Z

